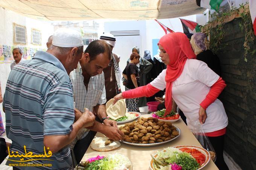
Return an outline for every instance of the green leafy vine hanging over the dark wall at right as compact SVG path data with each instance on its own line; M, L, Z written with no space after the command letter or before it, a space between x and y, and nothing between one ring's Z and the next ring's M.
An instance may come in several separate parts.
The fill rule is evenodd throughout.
M253 50L253 48L251 48L255 36L253 32L253 24L251 22L249 6L247 4L240 5L239 9L233 8L228 12L212 14L211 17L215 18L215 20L208 22L205 26L202 26L201 30L203 30L204 33L210 36L210 50L212 50L214 53L217 53L218 51L225 48L227 45L223 44L222 42L222 40L225 37L223 26L224 24L226 24L225 21L229 21L228 18L232 15L240 15L242 19L241 23L239 24L239 27L242 30L242 32L245 33L244 60L245 62L247 62L247 55L249 53L256 53L256 50Z

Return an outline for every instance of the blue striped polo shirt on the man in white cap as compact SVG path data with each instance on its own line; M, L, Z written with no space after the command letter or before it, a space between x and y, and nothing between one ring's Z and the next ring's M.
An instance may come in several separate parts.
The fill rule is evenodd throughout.
M25 154L25 145L27 152L44 154L44 135L69 134L75 119L72 83L64 66L55 56L44 51L38 51L32 60L15 65L6 84L3 107L7 137L12 140L10 152ZM20 161L20 158L9 159ZM24 158L27 159L32 158ZM72 168L69 145L46 159L50 160L29 162L52 164L52 167L18 168ZM17 162L8 160L6 165L10 163Z

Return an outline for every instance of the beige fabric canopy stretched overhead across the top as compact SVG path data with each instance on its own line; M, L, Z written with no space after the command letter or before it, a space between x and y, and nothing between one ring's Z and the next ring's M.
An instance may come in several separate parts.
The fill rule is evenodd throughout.
M202 14L195 0L0 0L0 7L36 20L149 20Z

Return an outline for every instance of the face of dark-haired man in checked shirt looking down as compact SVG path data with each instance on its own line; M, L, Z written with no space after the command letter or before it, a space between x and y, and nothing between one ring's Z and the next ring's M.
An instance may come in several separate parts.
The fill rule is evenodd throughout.
M89 74L90 76L95 76L101 74L103 69L107 68L109 62L110 60L108 59L108 53L105 52L98 54L94 60L90 60L85 63L84 68L87 74Z

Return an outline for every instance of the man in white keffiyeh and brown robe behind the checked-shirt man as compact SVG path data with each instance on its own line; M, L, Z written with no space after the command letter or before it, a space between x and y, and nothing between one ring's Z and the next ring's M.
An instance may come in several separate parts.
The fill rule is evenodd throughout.
M104 33L99 39L107 42L111 51L116 45L116 38L111 33ZM105 77L106 99L109 101L121 92L119 57L112 53L112 59L107 68L103 70Z

